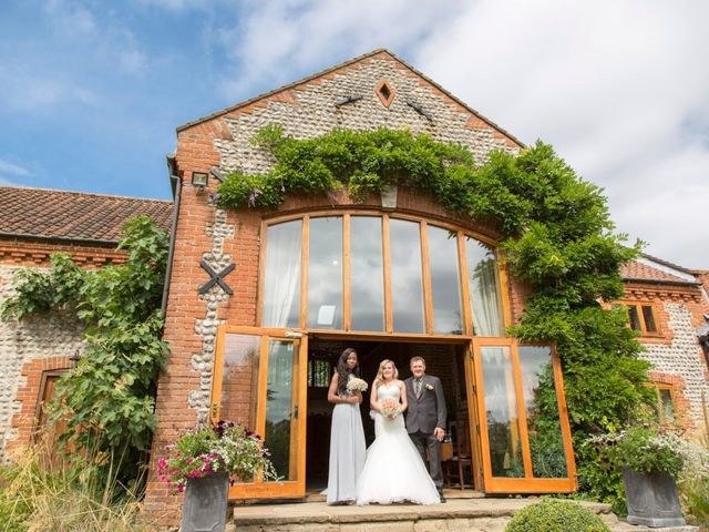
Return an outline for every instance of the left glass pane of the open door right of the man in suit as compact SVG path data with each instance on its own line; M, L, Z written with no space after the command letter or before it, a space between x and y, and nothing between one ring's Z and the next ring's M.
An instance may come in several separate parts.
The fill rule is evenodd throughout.
M508 347L481 347L493 477L524 477L517 395Z

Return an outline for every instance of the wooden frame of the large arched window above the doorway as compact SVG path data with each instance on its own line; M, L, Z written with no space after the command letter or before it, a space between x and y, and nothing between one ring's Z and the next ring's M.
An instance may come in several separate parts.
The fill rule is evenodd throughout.
M325 216L342 216L342 329L318 329L308 327L308 266L309 266L309 235L310 219ZM384 305L384 324L381 331L361 331L351 329L351 241L350 241L350 217L351 216L373 216L381 218L382 223L382 274L383 274L383 305ZM420 245L421 245L421 276L422 276L422 303L423 303L423 330L421 332L398 332L393 329L393 306L392 306L392 283L391 283L391 250L390 250L390 219L403 219L419 224ZM301 221L301 264L300 264L300 321L299 328L296 330L302 332L315 332L322 335L330 334L351 334L353 336L373 337L397 336L397 337L438 337L438 338L469 338L474 336L472 309L470 307L470 285L467 280L467 257L465 252L465 238L474 238L480 243L491 246L496 256L499 270L499 299L503 325L506 328L512 324L512 306L510 303L507 275L505 266L505 257L497 249L497 243L474 231L451 224L432 217L413 216L405 213L384 213L378 209L368 208L347 208L347 209L316 209L288 215L276 215L265 217L261 221L261 246L259 253L259 273L258 273L258 295L256 323L258 327L263 327L264 319L264 285L266 270L266 248L268 227L270 225ZM433 294L431 286L431 266L428 245L428 227L433 225L454 232L458 239L458 268L459 268L459 286L462 310L462 334L461 335L442 335L433 332ZM268 327L274 328L274 327ZM292 329L292 328L289 328Z

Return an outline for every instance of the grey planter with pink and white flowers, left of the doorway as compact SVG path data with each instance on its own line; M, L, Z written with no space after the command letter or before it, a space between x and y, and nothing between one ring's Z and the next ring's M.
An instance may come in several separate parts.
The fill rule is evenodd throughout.
M182 532L225 530L229 477L277 480L261 439L230 421L185 432L165 449L157 474L172 491L185 492Z

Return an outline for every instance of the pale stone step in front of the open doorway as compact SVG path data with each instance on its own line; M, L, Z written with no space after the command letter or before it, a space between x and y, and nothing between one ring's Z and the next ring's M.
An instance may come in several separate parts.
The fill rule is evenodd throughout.
M503 532L512 515L538 498L453 499L422 507L391 504L330 507L323 502L253 504L234 509L238 532ZM614 532L697 532L693 526L647 529L628 524L608 504L580 501Z

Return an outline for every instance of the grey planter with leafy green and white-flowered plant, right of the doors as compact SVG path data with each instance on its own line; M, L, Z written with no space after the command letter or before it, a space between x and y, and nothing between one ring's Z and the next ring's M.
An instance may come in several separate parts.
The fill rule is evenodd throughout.
M631 427L592 440L623 471L629 523L650 528L686 524L675 481L684 464L676 438Z

